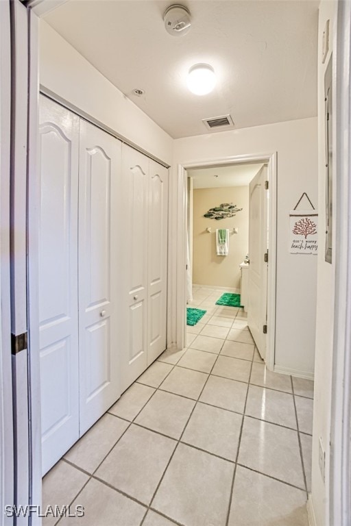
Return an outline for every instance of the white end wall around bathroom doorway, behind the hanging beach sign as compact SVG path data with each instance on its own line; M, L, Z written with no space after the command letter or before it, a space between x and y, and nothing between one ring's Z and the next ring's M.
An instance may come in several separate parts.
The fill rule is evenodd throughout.
M315 255L289 253L289 211L302 192L317 203L317 118L174 141L174 170L234 155L278 152L276 368L312 377L315 353Z

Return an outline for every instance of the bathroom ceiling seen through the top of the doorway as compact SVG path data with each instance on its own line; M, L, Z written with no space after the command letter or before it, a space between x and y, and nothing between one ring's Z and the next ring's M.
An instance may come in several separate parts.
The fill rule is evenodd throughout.
M187 170L193 178L194 188L229 188L248 186L263 164L236 164L219 168L194 168ZM215 177L217 175L217 177Z

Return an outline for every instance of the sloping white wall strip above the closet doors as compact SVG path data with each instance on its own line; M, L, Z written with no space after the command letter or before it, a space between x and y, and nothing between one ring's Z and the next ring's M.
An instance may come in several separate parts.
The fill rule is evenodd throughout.
M163 129L43 20L39 34L40 84L171 164L173 139Z

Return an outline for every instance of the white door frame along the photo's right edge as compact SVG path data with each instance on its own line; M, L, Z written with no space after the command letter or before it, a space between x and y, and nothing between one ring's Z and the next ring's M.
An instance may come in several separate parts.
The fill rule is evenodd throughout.
M339 1L333 43L335 151L335 318L330 417L330 521L348 526L351 516L351 4ZM336 51L336 52L335 52ZM335 133L334 133L335 132ZM333 183L334 184L334 183Z

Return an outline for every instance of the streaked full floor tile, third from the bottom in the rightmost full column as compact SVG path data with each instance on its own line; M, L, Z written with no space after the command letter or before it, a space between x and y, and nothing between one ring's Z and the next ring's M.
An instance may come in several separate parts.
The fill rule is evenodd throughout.
M293 395L287 392L250 386L245 414L297 429Z

